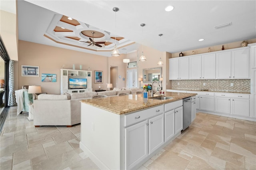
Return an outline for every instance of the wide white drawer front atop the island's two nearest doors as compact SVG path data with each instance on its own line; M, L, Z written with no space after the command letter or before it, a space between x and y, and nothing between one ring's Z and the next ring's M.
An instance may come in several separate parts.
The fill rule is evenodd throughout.
M124 115L124 126L140 122L164 112L164 105Z

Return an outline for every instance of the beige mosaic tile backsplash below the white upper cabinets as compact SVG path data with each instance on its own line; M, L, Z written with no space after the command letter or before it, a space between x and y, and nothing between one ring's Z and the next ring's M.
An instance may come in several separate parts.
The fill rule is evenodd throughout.
M234 80L172 80L174 90L209 90L250 93L250 79ZM205 86L204 86L205 83ZM233 83L233 86L230 84Z

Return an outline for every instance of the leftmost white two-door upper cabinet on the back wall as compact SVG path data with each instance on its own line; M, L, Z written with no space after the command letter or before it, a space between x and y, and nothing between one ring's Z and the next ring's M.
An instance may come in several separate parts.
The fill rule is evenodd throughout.
M188 57L169 59L169 80L189 79L189 59Z

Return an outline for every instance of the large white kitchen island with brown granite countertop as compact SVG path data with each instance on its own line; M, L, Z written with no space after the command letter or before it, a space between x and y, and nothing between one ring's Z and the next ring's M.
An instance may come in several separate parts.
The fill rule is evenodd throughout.
M194 93L167 92L167 100L143 94L81 100L80 148L100 169L136 169L182 130L182 99Z

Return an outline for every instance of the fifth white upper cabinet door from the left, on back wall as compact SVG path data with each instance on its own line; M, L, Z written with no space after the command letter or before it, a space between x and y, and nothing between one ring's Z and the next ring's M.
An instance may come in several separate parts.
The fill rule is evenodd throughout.
M216 78L231 78L231 51L216 53Z

